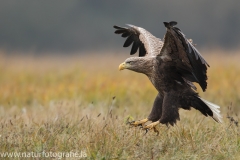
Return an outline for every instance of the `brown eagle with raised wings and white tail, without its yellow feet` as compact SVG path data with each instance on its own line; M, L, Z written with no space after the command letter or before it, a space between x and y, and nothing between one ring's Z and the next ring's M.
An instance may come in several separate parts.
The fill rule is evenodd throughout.
M203 91L206 90L209 65L181 30L174 27L176 24L164 22L167 28L164 42L140 27L114 26L116 34L127 37L124 47L133 43L130 54L139 49L139 57L126 59L119 69L147 75L159 92L147 120L174 125L180 120L179 108L190 110L193 107L221 122L219 107L200 98L192 83L197 82Z

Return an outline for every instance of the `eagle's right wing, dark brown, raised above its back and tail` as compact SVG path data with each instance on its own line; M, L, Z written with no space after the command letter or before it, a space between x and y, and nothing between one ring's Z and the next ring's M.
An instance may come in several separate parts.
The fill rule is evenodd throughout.
M158 57L163 61L175 61L176 67L183 78L199 83L202 90L205 91L207 88L207 67L209 65L182 31L174 27L176 24L177 22L164 22L167 33Z

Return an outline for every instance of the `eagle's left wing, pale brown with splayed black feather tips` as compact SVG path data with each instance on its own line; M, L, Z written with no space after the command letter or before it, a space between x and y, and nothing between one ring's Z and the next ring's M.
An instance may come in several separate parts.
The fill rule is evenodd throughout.
M163 42L149 33L147 30L134 25L128 25L129 28L113 26L116 34L122 34L126 38L123 47L129 47L131 44L132 49L130 55L133 55L139 49L139 57L155 56L160 53Z

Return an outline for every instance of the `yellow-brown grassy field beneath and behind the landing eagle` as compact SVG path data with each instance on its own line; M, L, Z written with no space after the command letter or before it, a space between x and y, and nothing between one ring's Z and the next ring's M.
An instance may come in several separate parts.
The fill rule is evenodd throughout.
M180 110L181 121L175 127L160 125L158 136L126 125L127 119L145 118L157 94L144 75L118 71L126 57L117 53L0 56L0 154L84 152L86 159L102 160L240 159L240 52L204 54L211 66L208 89L198 90L221 106L223 124L194 109Z

